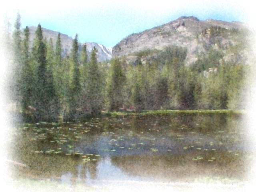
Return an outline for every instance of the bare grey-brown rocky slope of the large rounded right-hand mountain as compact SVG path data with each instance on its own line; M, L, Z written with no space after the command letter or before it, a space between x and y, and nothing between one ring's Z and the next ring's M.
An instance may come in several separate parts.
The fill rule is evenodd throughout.
M246 26L240 22L220 20L198 20L194 16L182 16L167 24L131 34L113 47L113 57L126 55L134 59L134 54L148 49L162 50L166 46L180 46L187 49L186 64L198 59L198 55L211 48L226 54L231 46L236 46L240 38L237 31ZM231 59L230 56L226 56Z

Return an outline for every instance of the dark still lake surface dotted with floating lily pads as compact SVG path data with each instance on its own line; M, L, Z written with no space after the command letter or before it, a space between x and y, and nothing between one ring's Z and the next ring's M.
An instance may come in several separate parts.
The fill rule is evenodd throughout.
M242 182L248 171L242 116L170 114L22 124L17 178L65 184L112 181Z

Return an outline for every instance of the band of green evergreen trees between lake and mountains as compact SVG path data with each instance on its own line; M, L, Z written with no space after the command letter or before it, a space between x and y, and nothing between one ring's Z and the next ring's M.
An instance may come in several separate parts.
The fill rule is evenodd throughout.
M79 51L78 35L63 56L60 33L56 42L46 40L39 24L30 47L29 28L20 26L18 14L5 45L13 55L12 100L26 120L73 120L102 110L243 108L248 66L225 62L221 51L210 50L191 66L177 46L150 59L147 51L137 53L134 64L125 57L98 62L95 47L90 60L86 43Z

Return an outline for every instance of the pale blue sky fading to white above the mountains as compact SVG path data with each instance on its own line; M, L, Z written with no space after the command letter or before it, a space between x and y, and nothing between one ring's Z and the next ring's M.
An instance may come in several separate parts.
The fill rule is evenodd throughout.
M9 2L9 1L8 1ZM246 22L247 13L241 1L22 1L6 2L4 12L13 24L21 15L22 28L37 26L58 31L80 42L97 42L107 47L116 45L129 34L165 24L180 16L196 16L224 21ZM40 2L40 4L38 3ZM246 1L243 1L246 2Z

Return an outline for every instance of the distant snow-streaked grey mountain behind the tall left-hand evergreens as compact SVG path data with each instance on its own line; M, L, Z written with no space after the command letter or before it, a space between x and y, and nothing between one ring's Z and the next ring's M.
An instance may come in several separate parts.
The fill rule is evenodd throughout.
M30 30L30 42L32 44L32 40L34 39L35 32L36 32L36 27L31 26L29 27ZM52 38L53 43L55 44L57 37L58 37L58 32L52 31L46 28L42 28L43 30L43 36L47 40ZM72 38L66 34L60 33L60 39L62 43L62 49L63 49L63 55L69 54L72 48ZM92 51L92 48L95 46L96 49L98 50L98 61L106 61L110 60L112 58L112 48L107 48L102 44L98 44L95 42L87 42L87 51L88 51L88 56L90 58L90 52ZM82 43L79 44L79 49L81 50L82 48Z

